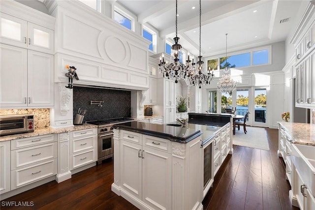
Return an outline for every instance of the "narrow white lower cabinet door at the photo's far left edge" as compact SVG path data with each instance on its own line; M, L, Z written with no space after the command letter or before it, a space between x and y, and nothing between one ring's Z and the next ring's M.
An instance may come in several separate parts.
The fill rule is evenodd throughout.
M11 190L10 141L0 142L0 194Z

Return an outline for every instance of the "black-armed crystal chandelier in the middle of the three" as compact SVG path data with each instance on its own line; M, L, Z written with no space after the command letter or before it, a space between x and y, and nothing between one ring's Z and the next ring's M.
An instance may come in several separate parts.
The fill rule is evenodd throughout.
M188 57L189 58L189 57ZM203 61L201 56L201 0L199 0L199 56L197 61L197 69L193 68L188 73L188 80L190 85L199 86L201 88L202 85L209 85L213 79L213 71L210 73L210 68L208 69L208 73L204 73L202 71Z

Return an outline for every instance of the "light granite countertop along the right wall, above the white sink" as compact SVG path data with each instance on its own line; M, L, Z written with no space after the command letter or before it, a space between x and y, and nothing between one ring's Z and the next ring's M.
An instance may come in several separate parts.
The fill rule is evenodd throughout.
M315 124L298 122L278 122L292 138L293 143L315 146Z

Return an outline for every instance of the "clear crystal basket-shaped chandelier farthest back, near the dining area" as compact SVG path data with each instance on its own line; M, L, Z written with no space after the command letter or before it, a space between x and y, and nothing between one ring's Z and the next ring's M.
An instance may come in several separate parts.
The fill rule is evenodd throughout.
M220 92L232 92L236 89L236 82L231 78L229 75L229 64L227 64L227 33L225 33L225 67L224 67L224 75L221 77L219 83L218 83L218 90Z

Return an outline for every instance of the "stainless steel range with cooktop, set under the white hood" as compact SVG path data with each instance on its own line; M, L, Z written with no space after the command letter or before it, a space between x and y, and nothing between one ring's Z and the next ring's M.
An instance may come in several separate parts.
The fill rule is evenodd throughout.
M102 160L114 156L113 125L134 121L131 118L111 118L105 120L92 120L86 123L97 125L97 164Z

